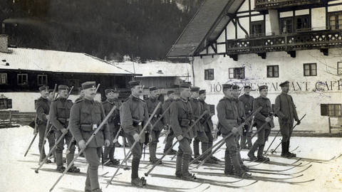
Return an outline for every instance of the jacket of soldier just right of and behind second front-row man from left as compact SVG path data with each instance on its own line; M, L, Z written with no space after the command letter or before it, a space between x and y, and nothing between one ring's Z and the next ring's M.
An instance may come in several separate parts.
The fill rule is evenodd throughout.
M157 99L147 98L145 100L145 102L147 105L148 115L150 116L160 101ZM159 122L157 122L157 120L162 116L163 113L164 113L164 109L162 108L162 105L160 105L160 107L155 112L155 115L151 119L151 124L153 124L153 126L154 126L153 130L161 131L164 128L164 125L167 124L166 119L165 119L165 115L162 117L162 119L160 119ZM157 122L157 124L155 124L155 122Z

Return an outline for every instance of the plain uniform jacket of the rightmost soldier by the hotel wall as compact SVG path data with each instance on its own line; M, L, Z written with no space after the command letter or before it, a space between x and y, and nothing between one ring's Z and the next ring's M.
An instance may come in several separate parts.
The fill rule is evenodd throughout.
M291 95L281 92L280 95L276 96L276 103L274 108L280 109L278 112L276 112L276 115L278 115L279 117L279 123L293 124L294 119L296 121L299 121L296 111L296 105L294 105L294 100L292 100ZM286 122L283 120L284 117L288 117L288 120Z

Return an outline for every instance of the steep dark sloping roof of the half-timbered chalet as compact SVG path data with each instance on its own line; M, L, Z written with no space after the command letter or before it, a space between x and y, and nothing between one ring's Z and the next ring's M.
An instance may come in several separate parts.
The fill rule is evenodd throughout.
M216 41L245 0L207 0L182 32L167 58L187 58Z

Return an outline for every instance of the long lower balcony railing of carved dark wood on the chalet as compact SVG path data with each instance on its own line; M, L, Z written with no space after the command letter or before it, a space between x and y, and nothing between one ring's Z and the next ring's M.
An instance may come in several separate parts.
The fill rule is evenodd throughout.
M228 55L306 50L321 47L341 48L342 31L284 33L278 36L249 37L226 41L226 53Z

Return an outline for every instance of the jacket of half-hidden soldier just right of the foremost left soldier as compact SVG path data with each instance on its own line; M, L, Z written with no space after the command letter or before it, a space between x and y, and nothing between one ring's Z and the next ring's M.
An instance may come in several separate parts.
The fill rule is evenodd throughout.
M116 109L112 114L110 114L110 117L108 119L109 129L111 132L114 132L115 130L120 128L120 107L123 105L123 103L115 99L113 101L105 100L102 102L103 110L105 111L105 115L107 115L110 110L113 109L114 106L116 106Z

